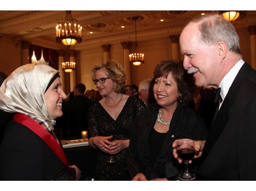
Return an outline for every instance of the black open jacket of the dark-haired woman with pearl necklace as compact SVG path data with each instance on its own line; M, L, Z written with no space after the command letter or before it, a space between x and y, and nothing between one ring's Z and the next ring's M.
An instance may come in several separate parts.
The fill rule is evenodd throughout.
M150 167L149 141L154 140L149 140L149 135L156 123L158 110L156 103L149 105L139 114L132 126L130 147L126 154L126 164L131 177L143 173L147 179L171 178L182 173L183 165L173 157L173 141L182 138L204 140L208 133L203 120L192 109L178 105L154 167ZM193 164L196 173L197 162Z

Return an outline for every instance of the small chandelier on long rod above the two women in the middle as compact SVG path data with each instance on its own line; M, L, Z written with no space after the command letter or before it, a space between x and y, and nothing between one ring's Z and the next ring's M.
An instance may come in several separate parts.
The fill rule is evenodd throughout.
M130 60L130 64L139 66L139 65L141 65L141 63L144 63L144 54L139 53L139 48L138 48L138 44L137 44L137 24L136 24L136 22L137 22L137 20L139 20L139 16L134 16L130 19L134 20L134 22L135 22L135 47L134 47L134 53L129 54L129 60Z

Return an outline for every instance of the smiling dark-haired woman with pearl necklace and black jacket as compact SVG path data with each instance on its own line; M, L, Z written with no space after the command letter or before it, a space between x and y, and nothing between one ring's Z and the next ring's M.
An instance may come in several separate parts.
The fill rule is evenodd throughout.
M182 173L183 167L172 154L173 141L206 137L203 120L188 107L192 95L184 74L182 63L174 60L164 60L156 66L156 103L139 114L131 129L126 164L132 180L167 180Z

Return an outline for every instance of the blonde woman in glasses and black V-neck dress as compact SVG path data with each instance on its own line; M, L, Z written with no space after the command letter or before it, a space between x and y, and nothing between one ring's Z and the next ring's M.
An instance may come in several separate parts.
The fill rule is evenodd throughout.
M130 128L145 105L139 99L132 99L127 94L122 94L126 84L126 74L113 60L94 67L92 79L103 97L89 107L87 116L89 145L98 150L94 178L130 180L126 170L126 149L130 143ZM111 157L113 160L109 161Z

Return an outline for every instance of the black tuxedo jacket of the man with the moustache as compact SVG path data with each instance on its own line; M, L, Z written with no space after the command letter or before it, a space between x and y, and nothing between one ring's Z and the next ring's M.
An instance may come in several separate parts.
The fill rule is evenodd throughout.
M256 71L244 63L205 141L199 175L256 180Z

